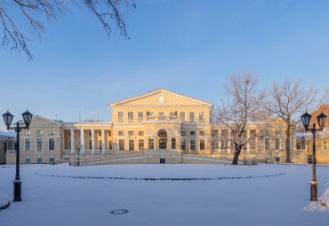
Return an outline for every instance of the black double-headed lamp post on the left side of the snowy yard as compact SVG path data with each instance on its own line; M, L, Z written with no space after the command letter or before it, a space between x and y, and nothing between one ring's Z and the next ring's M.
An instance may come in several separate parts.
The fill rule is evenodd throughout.
M20 131L23 129L28 129L29 123L32 120L32 113L29 113L28 110L25 113L22 113L23 120L25 123L24 126L20 126L20 122L16 122L15 127L10 127L12 124L13 115L8 111L3 114L4 123L7 126L7 130L12 129L16 132L16 143L17 143L17 150L16 150L16 176L15 180L13 181L13 201L20 202L21 201L21 181L20 181Z

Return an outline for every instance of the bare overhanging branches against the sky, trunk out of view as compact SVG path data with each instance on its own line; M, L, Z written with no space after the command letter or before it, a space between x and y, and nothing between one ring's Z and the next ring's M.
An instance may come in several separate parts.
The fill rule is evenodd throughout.
M36 18L41 15L46 19L58 19L59 16L70 12L70 8L74 5L87 8L92 12L100 20L107 35L112 33L112 27L116 27L124 38L129 39L122 12L124 8L136 8L133 0L0 0L2 45L19 52L23 51L29 59L33 59L27 44L30 39L21 32L17 22L18 19L14 18L15 16L12 16L11 12L18 11L19 15L27 20L33 34L41 38L41 34L44 33L44 26Z

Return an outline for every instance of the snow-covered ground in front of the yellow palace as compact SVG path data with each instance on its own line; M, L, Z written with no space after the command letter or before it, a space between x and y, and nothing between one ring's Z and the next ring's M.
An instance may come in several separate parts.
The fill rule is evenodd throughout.
M0 211L1 226L327 225L329 222L329 208L309 201L310 166L23 165L20 174L23 201L12 202L9 208ZM0 166L0 198L12 199L14 175L14 166ZM245 176L251 178L229 179ZM328 204L329 167L317 167L317 182L318 198ZM109 213L116 209L126 209L128 213Z

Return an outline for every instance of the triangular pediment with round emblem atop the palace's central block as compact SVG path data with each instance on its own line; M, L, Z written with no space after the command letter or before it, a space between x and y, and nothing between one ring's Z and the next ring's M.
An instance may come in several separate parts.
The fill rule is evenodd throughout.
M142 105L198 105L198 106L213 106L213 104L192 98L183 96L178 93L174 93L168 90L154 90L145 94L141 94L136 97L126 98L120 101L109 104L110 107L118 106L142 106Z

